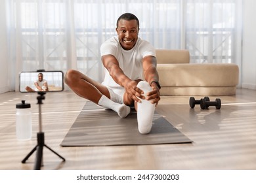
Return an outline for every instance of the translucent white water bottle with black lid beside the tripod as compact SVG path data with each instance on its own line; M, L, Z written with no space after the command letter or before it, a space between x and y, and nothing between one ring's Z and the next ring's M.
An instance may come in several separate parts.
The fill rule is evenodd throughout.
M16 104L16 137L20 141L32 138L32 113L30 103Z

